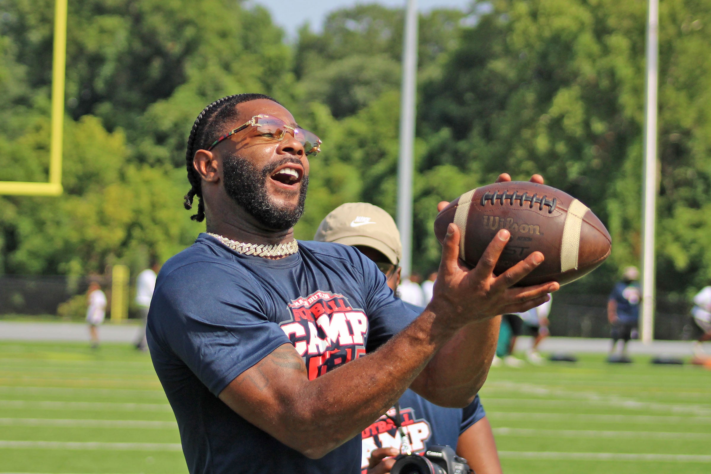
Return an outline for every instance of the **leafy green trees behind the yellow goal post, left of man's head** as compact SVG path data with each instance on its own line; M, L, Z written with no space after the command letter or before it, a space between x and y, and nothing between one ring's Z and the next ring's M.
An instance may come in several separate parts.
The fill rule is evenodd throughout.
M46 181L53 0L0 0L0 180ZM166 259L203 225L183 209L196 114L236 92L287 104L289 47L240 1L70 2L59 198L0 198L0 272L86 274Z

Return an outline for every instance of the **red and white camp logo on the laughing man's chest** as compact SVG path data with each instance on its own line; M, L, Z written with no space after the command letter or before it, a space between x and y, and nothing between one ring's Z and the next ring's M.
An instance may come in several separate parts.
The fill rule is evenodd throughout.
M304 357L309 380L365 354L368 317L341 294L316 291L289 303L292 320L280 326Z

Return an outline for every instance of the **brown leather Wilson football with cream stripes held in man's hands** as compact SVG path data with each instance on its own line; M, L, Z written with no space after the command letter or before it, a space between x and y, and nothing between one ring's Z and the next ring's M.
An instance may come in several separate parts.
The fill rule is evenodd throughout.
M543 263L518 286L570 283L596 269L611 250L605 226L583 203L561 190L528 181L486 185L453 200L434 220L440 243L450 222L459 227L459 258L472 267L498 230L511 233L494 269L496 275L531 252L542 252Z

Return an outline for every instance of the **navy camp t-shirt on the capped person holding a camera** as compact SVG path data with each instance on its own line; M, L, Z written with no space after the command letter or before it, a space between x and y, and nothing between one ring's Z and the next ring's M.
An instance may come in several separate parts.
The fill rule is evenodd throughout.
M424 308L405 303L413 313L419 314ZM479 395L474 402L464 408L444 408L420 397L407 389L400 397L400 418L402 426L410 434L412 452L422 454L429 446L435 444L451 446L456 451L459 435L486 416ZM368 470L370 453L377 448L400 449L400 433L395 423L395 408L387 411L378 421L363 430L363 453L361 453L360 468L362 474Z

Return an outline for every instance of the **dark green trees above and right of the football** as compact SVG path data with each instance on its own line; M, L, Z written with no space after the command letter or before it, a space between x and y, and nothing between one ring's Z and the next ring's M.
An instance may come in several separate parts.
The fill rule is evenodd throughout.
M540 172L583 200L614 240L607 268L584 280L602 288L617 266L639 255L646 4L493 5L422 87L424 168L451 163L479 170L486 181L501 171L515 178ZM688 213L702 212L709 196L711 67L702 51L711 44L701 31L710 9L682 0L661 5L658 260L660 285L669 291L699 284L693 266L705 262L685 261L668 242L683 232L675 219L702 225ZM697 248L697 257L711 252Z

